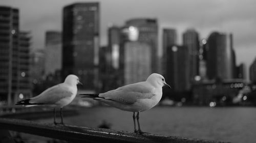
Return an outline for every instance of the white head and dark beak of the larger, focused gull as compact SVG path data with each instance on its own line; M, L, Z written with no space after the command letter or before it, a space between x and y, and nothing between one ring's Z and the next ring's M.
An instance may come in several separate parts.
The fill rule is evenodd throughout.
M170 85L168 85L165 82L165 79L161 74L152 73L150 76L147 77L146 81L150 82L151 84L155 85L156 87L167 86L170 88Z

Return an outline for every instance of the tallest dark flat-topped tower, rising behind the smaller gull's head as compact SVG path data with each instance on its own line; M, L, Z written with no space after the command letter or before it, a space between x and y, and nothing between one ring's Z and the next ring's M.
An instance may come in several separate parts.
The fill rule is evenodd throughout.
M99 63L99 3L66 6L62 28L62 78L76 74L83 89L95 90Z

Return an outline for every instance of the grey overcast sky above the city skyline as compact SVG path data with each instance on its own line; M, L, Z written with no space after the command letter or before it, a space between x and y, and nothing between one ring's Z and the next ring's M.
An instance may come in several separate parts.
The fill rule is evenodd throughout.
M160 28L176 28L180 44L187 28L195 28L200 38L212 31L232 33L237 64L246 64L247 78L256 57L254 0L1 0L0 5L18 8L20 30L31 31L34 48L44 48L45 32L61 31L62 8L75 2L100 2L101 45L107 44L106 29L111 23L123 25L127 19L148 17L157 18Z

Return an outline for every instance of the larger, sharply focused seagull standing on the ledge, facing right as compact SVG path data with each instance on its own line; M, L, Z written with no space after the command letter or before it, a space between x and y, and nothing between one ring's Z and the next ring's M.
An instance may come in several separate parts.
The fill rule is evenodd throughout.
M162 75L153 73L148 76L146 81L124 85L116 90L105 93L80 95L93 98L121 110L133 112L134 132L142 134L145 132L142 132L140 128L139 113L157 105L162 98L163 86L170 88ZM135 112L137 112L136 117ZM138 130L136 129L135 119L137 119Z

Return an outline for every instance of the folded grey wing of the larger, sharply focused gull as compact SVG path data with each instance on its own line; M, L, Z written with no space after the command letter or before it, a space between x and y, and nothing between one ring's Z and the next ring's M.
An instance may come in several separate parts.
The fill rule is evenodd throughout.
M116 90L112 90L99 95L101 98L114 100L124 104L133 104L139 99L151 99L155 88L147 82L137 82L125 85Z

